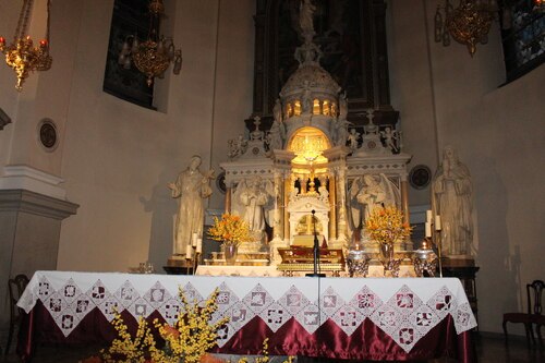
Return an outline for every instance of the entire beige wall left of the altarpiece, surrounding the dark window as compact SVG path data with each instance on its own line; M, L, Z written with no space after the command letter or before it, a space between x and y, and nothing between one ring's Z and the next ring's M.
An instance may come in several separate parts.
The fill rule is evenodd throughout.
M219 173L227 138L243 132L252 111L255 4L166 2L171 13L165 25L183 49L183 66L179 76L158 81L164 112L101 90L112 4L55 1L53 66L33 74L23 93L11 86L13 71L0 66L2 84L10 85L0 89L0 107L13 119L0 132L0 170L25 164L61 177L66 198L82 206L63 221L59 269L126 270L150 259L160 270L171 253L177 209L167 183L194 154L203 156L203 169ZM0 34L7 39L20 5L0 4ZM44 20L44 12L35 11L32 26L39 28ZM36 142L44 117L59 129L52 153ZM209 207L222 203L216 190Z

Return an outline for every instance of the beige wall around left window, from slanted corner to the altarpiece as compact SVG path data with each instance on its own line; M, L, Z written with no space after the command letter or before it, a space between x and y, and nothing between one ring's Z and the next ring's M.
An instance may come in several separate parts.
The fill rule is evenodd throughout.
M251 111L254 4L175 3L183 66L168 75L165 113L101 92L111 5L83 2L62 164L68 197L81 208L63 222L58 268L124 271L149 259L161 273L178 203L167 183L195 154L203 170L222 161L229 131L243 130Z

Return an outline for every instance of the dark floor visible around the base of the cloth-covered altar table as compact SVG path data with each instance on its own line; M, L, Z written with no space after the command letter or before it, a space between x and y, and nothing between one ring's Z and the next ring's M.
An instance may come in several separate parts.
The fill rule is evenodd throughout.
M529 346L524 337L511 336L506 344L504 336L499 334L481 334L475 337L475 344L480 363L543 363L545 362L545 342L536 346ZM88 358L102 347L39 347L34 363L77 363L84 358ZM0 355L0 363L20 362L13 353ZM3 352L2 352L3 353ZM306 360L304 360L306 361ZM320 360L313 360L320 363ZM326 360L330 363L331 360ZM449 359L435 360L433 363L450 363Z

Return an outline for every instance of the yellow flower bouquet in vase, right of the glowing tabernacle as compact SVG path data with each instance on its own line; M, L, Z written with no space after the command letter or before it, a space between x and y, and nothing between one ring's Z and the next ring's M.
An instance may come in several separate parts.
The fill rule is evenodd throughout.
M365 221L370 238L379 243L393 243L411 234L412 228L403 222L403 213L396 206L375 208Z

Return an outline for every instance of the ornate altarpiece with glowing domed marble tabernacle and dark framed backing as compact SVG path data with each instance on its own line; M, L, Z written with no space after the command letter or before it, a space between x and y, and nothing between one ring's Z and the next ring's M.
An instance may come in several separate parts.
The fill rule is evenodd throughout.
M226 210L266 220L267 238L241 246L250 259L267 255L276 265L279 249L312 234L346 250L375 206L395 204L409 220L411 156L389 105L384 17L376 0L257 2L254 114L249 137L229 141L220 165ZM261 204L249 207L249 193ZM364 241L370 253L375 244Z

